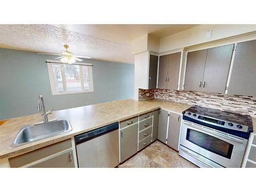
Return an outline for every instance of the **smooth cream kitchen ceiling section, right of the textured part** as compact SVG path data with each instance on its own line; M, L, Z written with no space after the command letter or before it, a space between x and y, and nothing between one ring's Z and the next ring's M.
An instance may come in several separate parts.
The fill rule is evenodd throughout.
M181 24L55 24L53 26L75 31L81 34L92 35L109 41L117 42L131 46L132 40L139 38L147 33L158 38L163 38L198 25L181 25Z

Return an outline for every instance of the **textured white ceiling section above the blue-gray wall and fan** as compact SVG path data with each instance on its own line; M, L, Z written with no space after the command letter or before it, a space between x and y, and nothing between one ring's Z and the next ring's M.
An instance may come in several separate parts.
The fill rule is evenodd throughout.
M51 25L0 25L0 47L43 53L60 53L63 45L76 55L134 63L130 46Z

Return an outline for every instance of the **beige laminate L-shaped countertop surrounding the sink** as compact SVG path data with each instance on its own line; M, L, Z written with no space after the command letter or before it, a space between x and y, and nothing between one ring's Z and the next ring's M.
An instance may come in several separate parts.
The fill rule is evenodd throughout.
M36 150L37 148L97 129L98 127L122 121L159 108L181 113L190 108L190 106L191 105L160 99L149 99L145 101L124 99L55 111L48 116L49 120L60 117L69 118L73 129L71 132L8 149L8 146L11 144L22 126L42 121L40 114L13 118L0 126L0 159L24 154L29 151Z

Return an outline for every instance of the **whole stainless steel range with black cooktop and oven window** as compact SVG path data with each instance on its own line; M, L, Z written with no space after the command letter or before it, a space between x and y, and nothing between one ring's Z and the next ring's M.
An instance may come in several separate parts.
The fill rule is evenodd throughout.
M179 155L199 167L240 167L250 116L193 106L183 112Z

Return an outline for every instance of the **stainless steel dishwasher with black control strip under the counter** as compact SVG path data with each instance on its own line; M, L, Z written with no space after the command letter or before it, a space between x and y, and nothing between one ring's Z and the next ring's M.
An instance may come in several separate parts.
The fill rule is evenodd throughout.
M118 122L75 136L78 167L115 167L119 164Z

